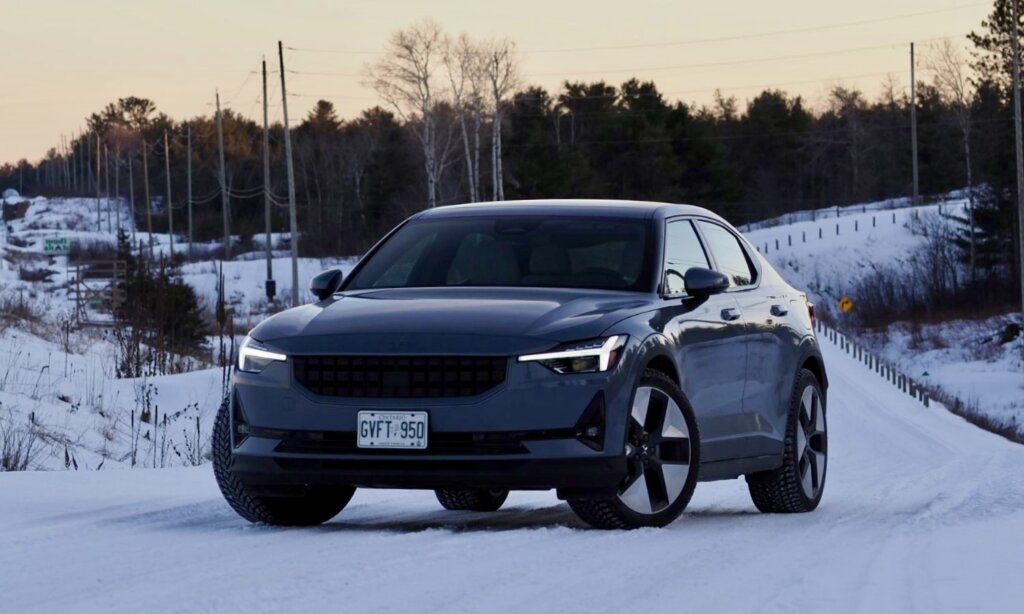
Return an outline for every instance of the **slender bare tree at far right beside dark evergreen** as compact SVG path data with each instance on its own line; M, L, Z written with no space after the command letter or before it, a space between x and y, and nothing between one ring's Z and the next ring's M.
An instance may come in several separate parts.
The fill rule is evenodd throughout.
M975 275L974 232L974 177L971 170L971 101L974 86L971 83L967 60L961 49L949 39L932 47L928 58L929 69L935 73L935 87L952 108L956 125L964 140L964 164L967 169L968 223L971 231L971 277Z

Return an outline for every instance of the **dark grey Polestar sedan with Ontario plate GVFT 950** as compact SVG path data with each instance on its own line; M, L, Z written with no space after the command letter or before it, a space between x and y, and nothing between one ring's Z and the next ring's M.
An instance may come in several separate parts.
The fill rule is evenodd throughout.
M557 489L602 528L664 526L699 480L745 476L762 512L821 498L813 306L705 209L433 209L311 289L246 338L217 418L248 520L322 523L356 487L474 511Z

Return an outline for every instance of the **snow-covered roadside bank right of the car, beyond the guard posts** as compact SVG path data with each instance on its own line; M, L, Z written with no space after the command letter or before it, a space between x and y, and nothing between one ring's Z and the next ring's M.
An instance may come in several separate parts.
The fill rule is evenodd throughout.
M839 216L823 210L814 220L752 230L746 236L791 283L808 292L819 313L846 327L850 316L839 310L839 299L851 298L855 314L855 290L865 275L880 267L905 266L928 240L923 230L948 224L939 214L961 215L965 207L966 202L954 200L896 210L853 207ZM940 324L897 322L858 341L921 383L941 388L1024 437L1024 336L998 342L1011 321L1019 322L1019 314Z

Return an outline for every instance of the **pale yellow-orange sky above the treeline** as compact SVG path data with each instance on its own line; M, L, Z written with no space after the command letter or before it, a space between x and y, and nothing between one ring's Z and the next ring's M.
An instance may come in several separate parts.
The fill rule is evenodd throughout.
M365 65L392 32L426 17L453 34L511 38L523 81L549 91L565 80L617 85L637 77L653 80L670 100L711 103L721 88L742 104L778 87L820 105L837 84L873 95L893 75L907 86L908 43L918 43L919 55L944 37L966 44L991 2L0 0L0 7L2 164L38 160L89 114L128 95L183 120L210 115L219 89L226 106L261 117L256 72L263 55L275 68L279 40L287 71L296 72L286 71L293 124L317 98L333 101L343 119L378 103L360 83ZM274 82L271 121L282 117L280 92Z

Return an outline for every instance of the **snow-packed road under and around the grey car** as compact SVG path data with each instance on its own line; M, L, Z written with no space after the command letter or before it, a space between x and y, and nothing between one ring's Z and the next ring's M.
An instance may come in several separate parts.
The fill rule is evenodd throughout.
M831 346L824 500L700 484L663 530L584 530L372 491L315 529L237 518L209 467L0 474L3 612L1020 612L1024 446L925 409Z

